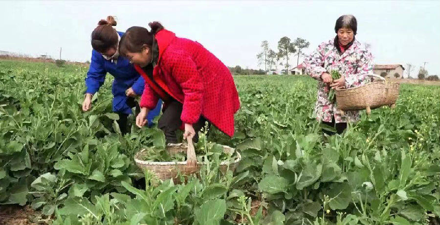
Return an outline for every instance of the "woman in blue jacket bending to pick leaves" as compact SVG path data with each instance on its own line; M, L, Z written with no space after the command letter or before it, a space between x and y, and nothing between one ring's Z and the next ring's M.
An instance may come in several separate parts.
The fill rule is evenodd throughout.
M119 115L119 128L122 134L127 133L127 117L136 107L136 114L140 111L139 104L134 97L142 95L144 91L144 79L134 69L127 58L119 57L118 42L124 34L116 31L112 26L116 25L113 17L100 20L98 26L91 34L92 57L90 68L86 77L86 96L83 102L83 111L91 107L91 99L104 83L106 74L114 77L111 93L113 94L113 112ZM148 124L151 125L155 116L160 112L162 102L159 101L156 108L147 115Z

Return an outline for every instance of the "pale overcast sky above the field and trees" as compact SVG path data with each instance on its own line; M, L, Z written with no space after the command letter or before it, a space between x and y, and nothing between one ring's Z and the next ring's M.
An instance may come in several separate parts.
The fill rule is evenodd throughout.
M440 75L440 1L1 1L0 50L47 53L71 61L91 56L90 33L98 20L117 17L116 29L158 20L177 36L203 44L228 66L258 68L261 41L277 49L280 38L310 42L310 53L332 39L344 14L358 21L356 39L372 45L376 64L427 61ZM292 57L289 64L296 65Z

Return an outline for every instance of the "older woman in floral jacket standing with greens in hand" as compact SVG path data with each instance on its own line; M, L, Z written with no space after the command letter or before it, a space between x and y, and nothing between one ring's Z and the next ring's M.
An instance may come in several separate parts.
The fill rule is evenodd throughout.
M359 120L359 112L348 111L341 115L335 102L329 101L330 88L349 88L370 82L367 74L373 72L373 56L366 46L354 38L357 31L354 16L339 17L334 31L336 37L321 43L316 51L306 57L304 66L306 73L318 80L318 100L314 110L316 119L335 127L337 133L341 134L347 128L348 122ZM337 70L341 78L333 81L330 75L332 70Z

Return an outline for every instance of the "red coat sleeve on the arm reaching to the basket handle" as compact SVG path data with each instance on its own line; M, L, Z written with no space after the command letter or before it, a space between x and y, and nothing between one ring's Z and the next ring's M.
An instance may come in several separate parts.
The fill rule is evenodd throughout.
M191 56L183 51L175 51L167 57L165 66L182 89L183 109L180 119L184 123L197 123L203 101L203 82ZM164 62L162 61L162 62Z

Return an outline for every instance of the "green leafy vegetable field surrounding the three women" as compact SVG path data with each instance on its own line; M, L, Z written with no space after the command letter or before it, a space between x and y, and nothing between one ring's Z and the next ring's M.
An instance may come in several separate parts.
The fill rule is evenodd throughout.
M235 77L235 137L212 129L198 146L229 145L242 161L222 174L223 158L205 149L200 176L174 184L134 164L140 149L163 148L164 135L119 134L110 75L82 112L87 69L0 61L1 205L30 205L53 225L440 223L438 86L401 84L395 109L324 137L312 115L316 81Z

